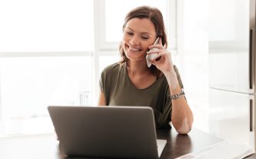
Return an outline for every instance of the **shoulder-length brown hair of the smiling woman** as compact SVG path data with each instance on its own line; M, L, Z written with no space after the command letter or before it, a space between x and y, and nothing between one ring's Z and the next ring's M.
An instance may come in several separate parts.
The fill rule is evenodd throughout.
M157 8L151 8L149 6L141 6L138 8L134 8L125 17L125 23L123 25L123 30L126 27L126 24L128 21L130 21L132 18L147 18L149 19L153 24L157 32L157 37L160 37L162 40L162 45L167 48L167 34L164 27L164 19L163 15ZM128 62L128 58L125 56L125 51L122 48L122 42L119 44L119 53L121 55L121 61L120 64L123 64L125 62ZM156 75L157 78L160 76L160 70L157 69L155 65L151 65L150 67L151 73L153 75Z

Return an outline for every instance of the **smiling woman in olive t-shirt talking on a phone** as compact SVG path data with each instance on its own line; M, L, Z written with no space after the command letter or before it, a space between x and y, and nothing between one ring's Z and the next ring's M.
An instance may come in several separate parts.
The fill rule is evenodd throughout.
M154 44L157 37L159 42ZM178 133L187 134L193 113L166 48L167 35L160 11L147 6L130 11L125 17L119 46L122 60L103 70L98 104L152 107L158 129L170 128L171 121ZM150 60L150 68L147 54L155 56Z

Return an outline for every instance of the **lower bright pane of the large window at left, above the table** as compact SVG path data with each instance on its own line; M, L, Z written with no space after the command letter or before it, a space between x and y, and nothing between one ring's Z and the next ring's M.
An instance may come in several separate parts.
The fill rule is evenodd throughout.
M5 133L29 132L28 119L44 132L47 106L92 103L91 56L2 58L0 73Z

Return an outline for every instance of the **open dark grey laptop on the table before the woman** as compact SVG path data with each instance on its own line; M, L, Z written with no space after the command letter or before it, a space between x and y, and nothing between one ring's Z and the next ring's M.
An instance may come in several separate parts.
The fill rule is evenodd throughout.
M48 111L66 155L158 159L167 144L157 140L151 107L49 106Z

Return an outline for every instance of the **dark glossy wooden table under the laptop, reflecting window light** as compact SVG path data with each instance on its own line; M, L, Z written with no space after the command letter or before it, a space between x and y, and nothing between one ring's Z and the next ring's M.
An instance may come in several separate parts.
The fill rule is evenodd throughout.
M161 159L172 159L209 145L221 142L214 135L193 129L189 135L179 135L174 129L157 131L157 138L167 139ZM26 135L0 138L1 159L89 159L91 157L66 157L59 148L54 134ZM96 157L93 157L94 159ZM256 154L247 157L255 158Z

